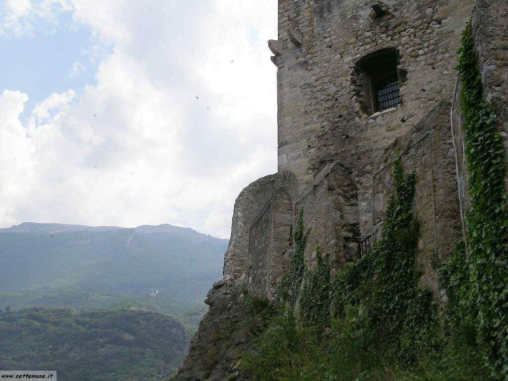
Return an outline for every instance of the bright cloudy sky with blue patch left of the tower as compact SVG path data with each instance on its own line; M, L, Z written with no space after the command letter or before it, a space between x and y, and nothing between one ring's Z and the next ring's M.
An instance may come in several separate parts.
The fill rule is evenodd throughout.
M0 227L229 238L238 193L277 170L276 18L273 0L0 0Z

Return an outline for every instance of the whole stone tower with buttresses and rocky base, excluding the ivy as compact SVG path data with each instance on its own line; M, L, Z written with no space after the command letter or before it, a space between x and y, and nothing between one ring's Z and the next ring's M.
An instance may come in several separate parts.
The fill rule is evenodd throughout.
M417 174L422 283L442 302L435 258L464 234L467 170L454 71L472 17L484 93L508 136L508 3L505 0L278 0L278 172L238 196L224 278L178 380L219 380L248 339L219 335L241 320L239 285L269 299L288 269L300 211L312 266L321 248L332 271L379 235L400 157ZM504 36L504 37L503 37ZM333 274L332 274L333 275Z

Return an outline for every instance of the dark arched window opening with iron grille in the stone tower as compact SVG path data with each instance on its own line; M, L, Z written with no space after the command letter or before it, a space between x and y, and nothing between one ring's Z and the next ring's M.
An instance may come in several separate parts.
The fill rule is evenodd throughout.
M397 66L399 52L383 49L362 58L356 65L359 102L363 112L372 115L402 103Z

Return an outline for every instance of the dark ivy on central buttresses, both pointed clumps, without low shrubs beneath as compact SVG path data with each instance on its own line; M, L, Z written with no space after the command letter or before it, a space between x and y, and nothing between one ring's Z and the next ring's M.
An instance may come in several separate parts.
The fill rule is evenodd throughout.
M306 234L300 213L292 269L280 282L279 293L289 294L292 306L298 302L304 326L326 326L332 316L344 316L349 310L358 315L359 329L376 337L397 338L405 332L406 343L409 336L415 343L435 330L431 293L418 287L419 225L412 209L416 175L403 173L400 158L393 174L395 191L389 198L383 238L333 280L328 258L319 249L317 263L305 268Z

